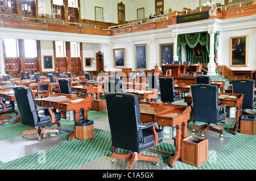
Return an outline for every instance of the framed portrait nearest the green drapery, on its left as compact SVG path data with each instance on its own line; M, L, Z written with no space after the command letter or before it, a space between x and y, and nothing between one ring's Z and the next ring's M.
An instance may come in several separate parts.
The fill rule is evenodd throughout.
M159 44L160 65L171 65L174 62L174 44Z

